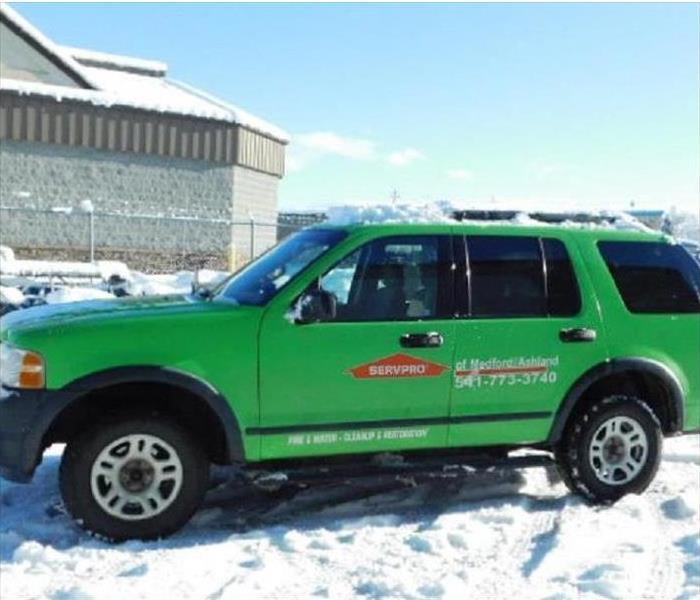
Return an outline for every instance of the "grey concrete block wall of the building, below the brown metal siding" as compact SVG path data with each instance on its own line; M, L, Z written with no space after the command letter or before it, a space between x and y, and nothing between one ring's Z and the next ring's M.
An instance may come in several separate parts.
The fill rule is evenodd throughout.
M0 205L43 211L68 207L73 212L27 214L3 210L0 242L18 250L85 249L89 221L80 211L80 204L90 200L96 213L124 215L96 216L98 250L112 249L121 257L124 251L139 256L144 251L211 255L220 258L216 264L221 266L229 258L232 234L239 260L250 255L250 228L198 223L182 217L247 221L252 214L258 222L275 223L278 182L272 175L201 160L3 140ZM274 241L274 227L256 225L258 252Z

